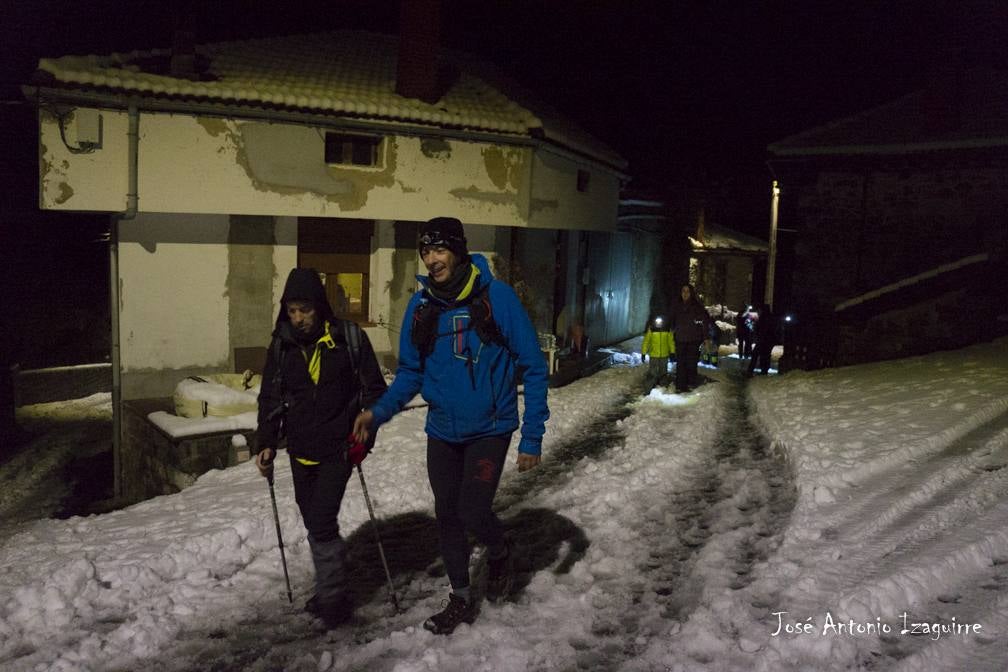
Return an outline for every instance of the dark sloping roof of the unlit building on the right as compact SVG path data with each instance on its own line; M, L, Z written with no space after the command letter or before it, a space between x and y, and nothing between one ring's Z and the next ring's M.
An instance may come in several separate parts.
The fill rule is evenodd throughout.
M1008 74L977 69L770 144L778 156L1008 146Z

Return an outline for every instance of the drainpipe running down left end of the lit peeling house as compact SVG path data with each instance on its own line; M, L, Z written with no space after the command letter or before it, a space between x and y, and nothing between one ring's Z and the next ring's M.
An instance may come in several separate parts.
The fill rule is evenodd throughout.
M112 216L109 232L109 290L112 327L112 458L113 483L115 497L123 494L122 483L122 363L119 342L119 223L136 217L139 204L137 189L137 157L140 146L140 111L135 103L128 109L129 142L127 155L128 188L126 193L126 210Z

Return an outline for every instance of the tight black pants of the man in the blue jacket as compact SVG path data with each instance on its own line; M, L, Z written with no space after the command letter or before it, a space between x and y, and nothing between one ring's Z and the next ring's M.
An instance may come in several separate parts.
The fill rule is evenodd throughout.
M467 532L491 553L504 544L504 526L491 507L510 443L510 434L466 443L427 436L427 478L434 494L442 558L453 588L469 585Z

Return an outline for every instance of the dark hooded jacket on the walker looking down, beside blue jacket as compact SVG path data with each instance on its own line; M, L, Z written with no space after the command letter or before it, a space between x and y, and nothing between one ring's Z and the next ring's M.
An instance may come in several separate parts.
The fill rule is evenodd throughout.
M316 306L319 328L309 342L298 340L287 317L286 302L290 300L308 300ZM330 339L319 341L325 335L327 322ZM354 418L362 407L370 406L382 395L386 385L371 342L363 330L358 362L360 381L354 380L342 322L333 315L319 274L310 268L290 271L273 329L274 344L279 343L279 357L271 345L263 367L257 432L260 447L276 446L285 434L287 451L294 457L323 461L345 454ZM308 373L308 361L317 348L321 356L318 383ZM355 402L358 394L360 398ZM284 402L286 412L274 413Z

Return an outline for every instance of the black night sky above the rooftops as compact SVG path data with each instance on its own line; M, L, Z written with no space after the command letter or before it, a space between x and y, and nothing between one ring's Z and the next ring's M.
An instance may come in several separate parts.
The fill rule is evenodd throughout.
M85 274L104 217L36 210L33 111L19 86L37 59L335 28L395 33L389 0L35 0L4 3L0 142L7 282L27 268ZM766 145L919 88L936 65L1008 68L1008 3L443 0L443 42L498 63L630 162L631 188L683 185L722 199L722 223L766 237ZM14 221L18 226L9 226ZM61 241L74 271L59 268ZM100 256L100 255L98 255ZM95 271L97 273L98 271ZM68 280L69 281L69 280Z

